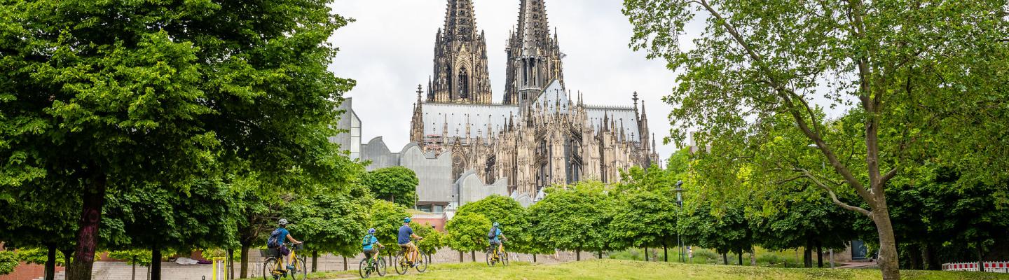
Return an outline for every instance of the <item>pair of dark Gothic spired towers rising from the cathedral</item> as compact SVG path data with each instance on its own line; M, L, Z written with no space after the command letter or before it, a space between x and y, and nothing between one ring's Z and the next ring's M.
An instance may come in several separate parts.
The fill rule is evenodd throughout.
M518 29L508 41L506 105L528 104L557 80L563 85L557 34L550 36L543 0L523 0ZM435 37L434 76L428 82L428 102L490 104L487 43L477 32L471 0L448 0L445 26Z

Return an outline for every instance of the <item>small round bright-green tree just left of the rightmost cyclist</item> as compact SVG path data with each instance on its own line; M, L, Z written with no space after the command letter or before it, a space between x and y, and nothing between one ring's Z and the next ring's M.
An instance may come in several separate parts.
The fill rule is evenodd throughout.
M482 214L456 214L445 225L448 247L460 252L482 251L487 247L487 232L492 224Z

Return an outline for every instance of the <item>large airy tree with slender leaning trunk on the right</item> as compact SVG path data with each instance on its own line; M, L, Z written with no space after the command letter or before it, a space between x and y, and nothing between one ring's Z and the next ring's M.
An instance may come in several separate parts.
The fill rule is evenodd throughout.
M701 146L746 147L759 144L766 135L760 128L769 119L788 116L807 139L791 148L814 144L830 166L823 173L830 175L801 166L785 170L807 177L831 197L838 191L856 193L866 207L831 200L874 222L884 278L898 279L887 182L913 167L909 155L933 143L947 144L952 151L994 151L1004 145L1004 140L992 140L1001 132L983 124L991 116L1006 115L1003 58L1009 55L1004 43L1009 24L1004 13L993 12L1003 11L1004 5L628 0L624 13L635 26L632 48L665 59L669 68L681 73L679 86L665 99L677 106L670 115L677 127L673 138L682 142L685 130L700 130L692 136ZM692 48L681 49L678 35L698 14L707 18L704 31ZM857 107L852 125L858 124L861 133L853 139L865 145L859 160L837 155L847 143L828 141L834 132L817 116L814 104ZM996 122L994 127L1007 127ZM730 138L747 141L724 141ZM972 158L964 161L1006 166L1004 149L986 153L971 152Z

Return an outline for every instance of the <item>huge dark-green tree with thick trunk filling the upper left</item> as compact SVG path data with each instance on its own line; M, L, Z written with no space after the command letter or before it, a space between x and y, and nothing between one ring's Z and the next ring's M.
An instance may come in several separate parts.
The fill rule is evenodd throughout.
M332 174L326 137L353 82L327 69L347 22L327 3L0 5L0 170L83 182L68 279L91 277L107 191L185 190L236 160L270 187Z

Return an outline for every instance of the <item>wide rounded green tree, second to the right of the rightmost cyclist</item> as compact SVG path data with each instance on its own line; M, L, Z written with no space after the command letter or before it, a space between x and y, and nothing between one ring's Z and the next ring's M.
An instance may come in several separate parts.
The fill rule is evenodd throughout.
M578 182L563 187L550 187L546 196L529 207L533 232L543 246L581 251L609 249L606 230L611 202L603 193L605 186L598 181Z

